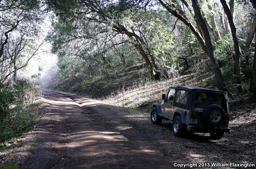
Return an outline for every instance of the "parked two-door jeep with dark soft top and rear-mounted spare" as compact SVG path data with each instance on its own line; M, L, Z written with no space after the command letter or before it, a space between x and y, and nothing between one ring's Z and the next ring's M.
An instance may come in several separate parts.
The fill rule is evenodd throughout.
M182 137L186 131L210 133L218 140L228 128L228 93L207 88L170 87L162 99L153 104L150 119L160 124L162 119L172 121L174 136Z

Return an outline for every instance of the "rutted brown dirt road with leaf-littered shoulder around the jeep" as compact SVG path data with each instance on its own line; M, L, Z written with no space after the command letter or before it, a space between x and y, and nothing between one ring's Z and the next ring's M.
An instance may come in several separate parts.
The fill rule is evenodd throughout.
M172 168L179 162L255 163L255 123L231 123L233 132L217 141L209 140L206 134L179 138L172 135L171 122L153 125L149 114L51 90L43 90L43 96L47 113L36 128L36 148L21 168Z

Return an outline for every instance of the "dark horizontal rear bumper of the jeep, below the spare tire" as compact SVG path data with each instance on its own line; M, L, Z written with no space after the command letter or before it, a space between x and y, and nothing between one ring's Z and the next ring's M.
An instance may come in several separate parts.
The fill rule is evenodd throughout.
M204 126L187 126L187 130L201 133L212 133L212 132L230 132L231 129L228 127L204 127Z

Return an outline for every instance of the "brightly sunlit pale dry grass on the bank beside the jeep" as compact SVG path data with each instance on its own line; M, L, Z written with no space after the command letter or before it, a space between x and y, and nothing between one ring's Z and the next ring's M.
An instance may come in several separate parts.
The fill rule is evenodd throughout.
M191 79L191 76L183 75L169 80L161 81L140 81L129 88L119 89L102 99L110 104L129 108L147 107L152 102L161 99L163 93L168 91L170 86L184 85L184 80ZM191 84L188 83L187 84Z

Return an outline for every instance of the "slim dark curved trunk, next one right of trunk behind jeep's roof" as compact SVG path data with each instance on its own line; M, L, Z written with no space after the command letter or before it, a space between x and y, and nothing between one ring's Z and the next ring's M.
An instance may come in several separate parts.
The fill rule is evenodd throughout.
M240 79L240 50L239 50L238 39L236 37L236 26L234 24L232 13L231 13L231 10L229 10L229 8L228 8L228 4L226 3L226 0L220 0L220 3L222 4L222 7L223 7L223 9L224 9L224 11L225 11L225 13L228 17L228 23L229 23L231 33L232 33L232 37L233 37L233 41L234 41L234 48L235 48L234 74L236 76L237 90L238 90L238 92L241 92L242 91L242 86L241 86L241 79Z

